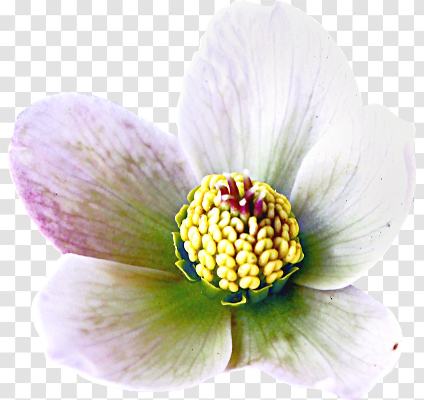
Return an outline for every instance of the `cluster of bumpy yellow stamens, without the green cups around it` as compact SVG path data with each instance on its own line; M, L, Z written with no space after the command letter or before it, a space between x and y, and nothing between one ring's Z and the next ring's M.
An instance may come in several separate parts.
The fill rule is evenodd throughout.
M243 175L231 177L242 198ZM266 183L252 184L250 209L242 212L223 201L220 188L231 190L224 175L205 176L180 227L184 249L198 263L196 273L231 292L272 284L283 276L284 265L297 263L302 255L289 200Z

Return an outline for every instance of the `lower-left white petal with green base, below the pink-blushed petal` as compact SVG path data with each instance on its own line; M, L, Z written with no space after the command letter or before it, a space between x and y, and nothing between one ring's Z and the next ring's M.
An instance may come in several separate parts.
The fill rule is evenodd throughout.
M231 354L230 312L167 272L68 254L33 309L48 357L129 390L194 386Z

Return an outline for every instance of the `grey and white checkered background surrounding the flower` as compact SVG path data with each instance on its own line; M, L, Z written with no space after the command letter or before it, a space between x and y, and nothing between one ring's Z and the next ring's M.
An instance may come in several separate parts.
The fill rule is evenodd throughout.
M335 398L257 370L191 389L134 393L92 384L45 360L30 307L59 253L15 194L7 149L16 115L61 91L113 100L171 132L184 69L229 0L16 0L0 4L0 398ZM262 0L262 4L272 4ZM424 0L292 0L352 65L364 104L417 128L417 189L398 239L356 285L402 325L405 352L369 398L424 397ZM394 187L393 190L396 190Z

